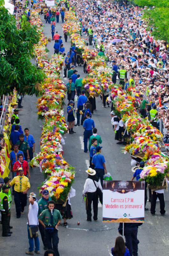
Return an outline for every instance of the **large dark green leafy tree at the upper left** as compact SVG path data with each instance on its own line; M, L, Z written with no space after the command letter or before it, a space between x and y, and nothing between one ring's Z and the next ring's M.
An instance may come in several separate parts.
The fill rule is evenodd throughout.
M44 72L30 61L34 44L39 42L36 26L23 19L17 29L15 17L0 7L0 95L18 92L39 95L38 84Z

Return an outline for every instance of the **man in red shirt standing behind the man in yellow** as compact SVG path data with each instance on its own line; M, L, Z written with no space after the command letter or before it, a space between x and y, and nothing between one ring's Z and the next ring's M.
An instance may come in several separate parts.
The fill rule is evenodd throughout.
M20 168L23 170L24 175L30 179L29 166L27 161L23 159L23 154L18 154L18 161L14 163L12 171L16 172L16 175L18 175Z

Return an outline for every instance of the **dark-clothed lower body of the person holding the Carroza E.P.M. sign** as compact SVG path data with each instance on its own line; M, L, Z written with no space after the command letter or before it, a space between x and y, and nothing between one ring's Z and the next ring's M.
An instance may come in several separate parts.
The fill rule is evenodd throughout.
M143 223L124 223L124 236L126 239L126 246L129 249L130 256L138 255L138 239L137 232L138 227ZM118 228L119 233L122 235L122 223L119 224Z

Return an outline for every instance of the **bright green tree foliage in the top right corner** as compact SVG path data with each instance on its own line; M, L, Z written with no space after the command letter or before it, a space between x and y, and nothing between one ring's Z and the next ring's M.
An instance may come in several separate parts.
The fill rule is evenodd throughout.
M139 6L147 6L143 18L148 29L152 28L155 39L169 40L169 1L168 0L134 0Z

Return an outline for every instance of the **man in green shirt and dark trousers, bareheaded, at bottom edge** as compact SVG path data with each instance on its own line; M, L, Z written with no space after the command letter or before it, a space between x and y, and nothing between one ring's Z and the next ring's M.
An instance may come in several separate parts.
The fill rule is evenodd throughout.
M45 228L45 236L48 244L48 249L54 250L55 256L59 256L58 252L58 226L62 220L62 215L55 208L55 202L48 202L48 209L41 212L39 222ZM52 248L53 247L53 248Z

